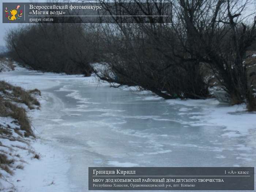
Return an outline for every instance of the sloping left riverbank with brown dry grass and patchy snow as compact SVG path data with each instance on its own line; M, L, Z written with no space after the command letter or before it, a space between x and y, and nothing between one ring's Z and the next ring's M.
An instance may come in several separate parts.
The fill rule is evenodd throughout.
M27 117L29 110L39 109L35 97L40 97L39 90L25 91L0 81L0 190L16 189L11 181L16 170L24 169L27 158L40 158L30 145L34 133Z

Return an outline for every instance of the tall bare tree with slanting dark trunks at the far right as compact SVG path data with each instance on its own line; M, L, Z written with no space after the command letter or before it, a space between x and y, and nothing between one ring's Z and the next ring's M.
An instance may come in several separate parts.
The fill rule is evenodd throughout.
M246 65L246 50L255 39L255 18L245 24L249 1L179 0L176 7L180 41L190 60L207 63L232 99L246 100L248 110L256 110ZM177 26L179 25L179 27Z

